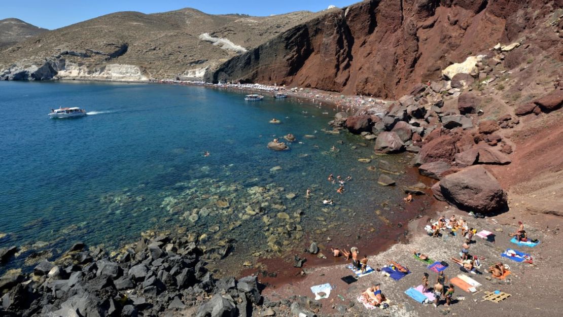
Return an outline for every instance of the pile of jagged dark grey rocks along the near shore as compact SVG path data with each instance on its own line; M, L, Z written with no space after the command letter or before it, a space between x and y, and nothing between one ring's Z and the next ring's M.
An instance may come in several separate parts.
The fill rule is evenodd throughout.
M0 314L155 316L194 307L201 317L250 315L263 301L257 276L215 279L203 254L183 235L141 238L113 257L76 243L33 273L2 276Z

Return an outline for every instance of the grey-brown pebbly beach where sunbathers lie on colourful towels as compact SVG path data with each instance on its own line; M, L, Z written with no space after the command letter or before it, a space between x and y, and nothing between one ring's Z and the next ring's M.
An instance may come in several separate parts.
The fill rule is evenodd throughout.
M475 219L467 216L466 212L458 211L444 203L436 203L433 207L437 211L437 215L462 216L468 220L469 226L477 231L489 230L495 234L494 242L475 237L473 239L475 243L471 244L470 253L484 258L480 269L482 274L463 273L459 266L450 259L451 257L459 258L458 252L463 243L461 236L448 235L446 240L432 238L423 230L429 217L422 217L410 222L410 235L407 243L392 245L387 251L369 257L369 265L374 268L387 265L390 260L409 267L412 273L403 279L395 281L376 272L361 277L358 282L347 284L341 278L350 275L351 271L347 269L345 261L339 259L337 260L339 264L306 269L307 274L296 282L266 288L263 292L264 296L269 300L282 300L292 295L312 298L314 295L310 290L311 286L330 283L333 288L330 297L319 300L322 304L320 311L317 312L319 316L435 316L437 313L468 316L490 315L491 312L494 316L560 316L558 297L561 291L557 286L563 282L559 274L563 269L561 264L563 255L558 237L561 227L560 219L549 215L533 217L519 209L511 209L510 212L494 217ZM437 215L432 218L436 219ZM517 220L525 222L529 236L541 240L537 247L519 247L510 242L508 233L516 229ZM498 230L501 229L502 232L499 232ZM377 243L377 241L373 243ZM501 257L501 253L507 248L529 253L534 264L519 264ZM450 266L444 271L448 279L458 274L466 274L481 283L482 286L477 288L477 293L466 293L461 289L456 289L454 298L463 296L464 300L454 300L449 307L439 305L435 308L432 304L423 305L412 300L404 291L409 287L420 285L423 273L430 274L431 284L436 281L436 273L428 270L425 263L412 256L414 249L425 253L434 260L448 262ZM486 279L490 274L485 270L492 263L499 261L509 265L512 274L502 282L494 278ZM381 283L383 294L391 300L391 306L386 310L367 310L356 300L361 292L376 283ZM494 292L496 290L509 293L511 297L500 303L481 301L485 291ZM347 312L345 314L339 312L338 305L347 307ZM287 307L280 306L278 310L280 315L289 314Z

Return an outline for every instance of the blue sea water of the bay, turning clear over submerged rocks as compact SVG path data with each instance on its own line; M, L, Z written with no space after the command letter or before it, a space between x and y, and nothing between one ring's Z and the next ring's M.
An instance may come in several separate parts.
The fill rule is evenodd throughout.
M377 166L373 143L321 131L333 110L292 99L246 102L243 93L203 87L83 82L0 82L0 96L0 247L32 252L43 241L64 250L77 240L118 247L141 231L181 226L243 253L281 251L304 238L346 242L359 231L377 233L384 224L374 209L402 196L378 186L379 171L366 168ZM89 115L49 119L59 106ZM297 137L291 150L266 148L287 133ZM385 159L404 166L400 155ZM282 169L272 172L275 166ZM329 173L352 176L344 195ZM335 206L323 205L325 198Z

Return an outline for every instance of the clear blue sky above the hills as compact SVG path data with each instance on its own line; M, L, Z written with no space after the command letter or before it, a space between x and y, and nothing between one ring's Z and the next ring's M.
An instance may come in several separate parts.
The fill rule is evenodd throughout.
M345 7L360 0L2 0L0 20L16 17L41 28L62 26L117 11L146 14L191 7L209 14L249 14L266 16L292 11L320 11L329 5Z

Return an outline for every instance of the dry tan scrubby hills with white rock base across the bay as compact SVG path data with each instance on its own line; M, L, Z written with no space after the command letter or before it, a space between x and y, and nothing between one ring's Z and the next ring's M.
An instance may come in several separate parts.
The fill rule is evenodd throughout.
M117 12L0 50L0 78L201 79L205 70L313 16L208 15L191 8Z

